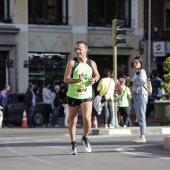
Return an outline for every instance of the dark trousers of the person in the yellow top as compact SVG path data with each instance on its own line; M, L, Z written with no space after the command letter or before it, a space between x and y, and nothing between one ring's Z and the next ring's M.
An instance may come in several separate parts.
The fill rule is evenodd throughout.
M105 116L104 116L104 124L112 124L113 119L113 101L107 100L104 102L104 110L105 110Z

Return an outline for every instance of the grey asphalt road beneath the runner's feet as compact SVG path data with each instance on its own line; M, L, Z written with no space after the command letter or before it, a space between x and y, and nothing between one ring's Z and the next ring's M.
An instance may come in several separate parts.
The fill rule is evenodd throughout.
M84 153L77 129L78 155L69 155L66 128L0 129L1 170L167 170L170 151L163 149L165 135L149 135L147 143L134 144L134 135L90 135L92 153Z

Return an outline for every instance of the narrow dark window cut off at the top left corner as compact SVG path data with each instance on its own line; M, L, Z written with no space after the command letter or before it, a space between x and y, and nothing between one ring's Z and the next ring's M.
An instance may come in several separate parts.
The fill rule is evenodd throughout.
M10 17L10 1L0 0L0 21L5 23L11 23Z

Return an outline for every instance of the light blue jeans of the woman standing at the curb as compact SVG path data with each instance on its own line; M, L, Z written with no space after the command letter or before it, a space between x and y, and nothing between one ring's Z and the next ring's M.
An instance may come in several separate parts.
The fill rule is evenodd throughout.
M147 95L134 95L134 107L137 121L140 127L141 135L146 134L146 106L148 102Z

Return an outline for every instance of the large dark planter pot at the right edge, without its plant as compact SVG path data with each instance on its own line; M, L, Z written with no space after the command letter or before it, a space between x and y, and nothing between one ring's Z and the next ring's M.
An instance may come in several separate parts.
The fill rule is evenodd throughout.
M154 103L155 114L162 125L170 124L170 102Z

